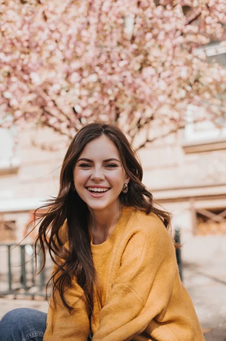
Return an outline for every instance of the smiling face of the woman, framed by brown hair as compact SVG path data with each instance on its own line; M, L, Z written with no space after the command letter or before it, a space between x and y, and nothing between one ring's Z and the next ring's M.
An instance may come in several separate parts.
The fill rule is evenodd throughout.
M129 178L119 152L105 135L90 141L77 160L74 185L80 198L93 210L102 210L118 201Z

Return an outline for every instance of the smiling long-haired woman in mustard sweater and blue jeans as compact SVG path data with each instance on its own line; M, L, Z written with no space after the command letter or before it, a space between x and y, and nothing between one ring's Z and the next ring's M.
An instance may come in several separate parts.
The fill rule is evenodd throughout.
M91 123L66 153L36 245L54 261L46 314L15 309L4 341L204 341L167 228L124 134ZM46 321L46 322L45 322Z

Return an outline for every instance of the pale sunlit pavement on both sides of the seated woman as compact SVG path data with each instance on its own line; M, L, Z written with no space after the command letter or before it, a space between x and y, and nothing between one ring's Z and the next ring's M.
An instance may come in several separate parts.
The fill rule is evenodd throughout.
M193 237L182 248L183 283L206 341L226 341L226 236ZM0 318L28 307L47 312L46 301L0 298Z

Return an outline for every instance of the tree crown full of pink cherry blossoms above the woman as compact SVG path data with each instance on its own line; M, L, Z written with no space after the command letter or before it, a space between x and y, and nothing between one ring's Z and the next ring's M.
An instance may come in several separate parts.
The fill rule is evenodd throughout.
M194 119L226 114L225 0L0 0L0 124L74 136L114 122L137 148Z

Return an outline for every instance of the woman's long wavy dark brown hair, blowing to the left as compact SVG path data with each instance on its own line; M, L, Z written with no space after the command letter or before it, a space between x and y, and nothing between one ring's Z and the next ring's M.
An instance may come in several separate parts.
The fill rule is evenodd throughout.
M84 291L90 311L93 308L93 290L98 286L90 249L89 209L77 192L72 190L72 186L73 167L77 159L87 143L102 135L110 138L118 149L125 172L130 178L128 192L119 195L120 203L133 206L146 214L154 212L166 228L170 226L170 214L154 207L153 196L142 183L143 170L140 161L123 132L116 126L103 122L90 123L82 128L74 136L65 155L57 197L40 207L45 212L39 213L40 209L37 209L34 213L35 219L41 220L35 250L38 245L41 246L43 269L47 247L56 269L50 278L53 282L53 296L59 290L62 302L69 311L74 305L68 305L64 293L71 285L73 276ZM64 232L67 235L68 248L64 246L65 241L61 237Z

